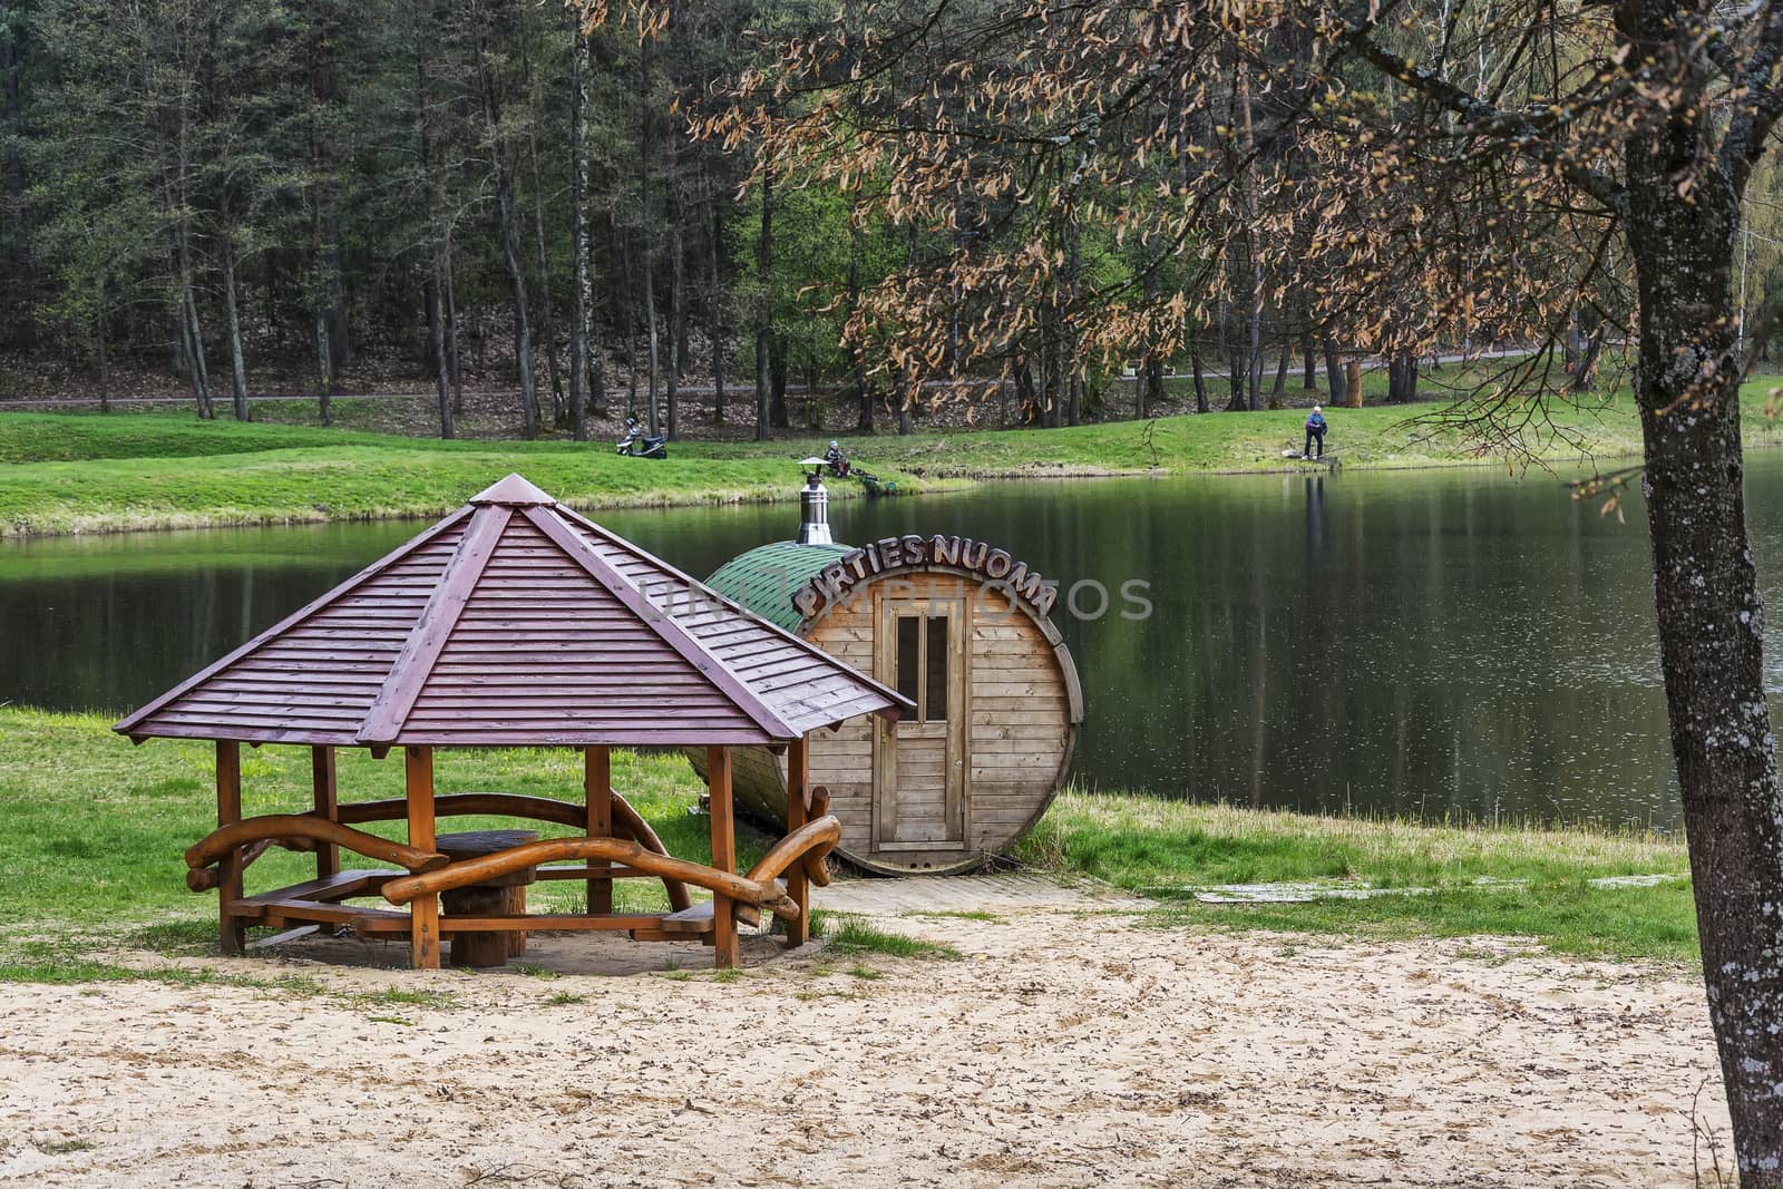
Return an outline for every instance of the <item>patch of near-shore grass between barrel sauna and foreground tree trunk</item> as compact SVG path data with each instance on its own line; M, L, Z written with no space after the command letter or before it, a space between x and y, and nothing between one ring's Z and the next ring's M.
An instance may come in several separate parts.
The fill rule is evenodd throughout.
M1697 961L1681 841L1582 829L1412 825L1066 791L1018 850L1145 893L1159 923L1371 938L1530 938L1583 957ZM1204 904L1196 888L1393 890L1311 904Z

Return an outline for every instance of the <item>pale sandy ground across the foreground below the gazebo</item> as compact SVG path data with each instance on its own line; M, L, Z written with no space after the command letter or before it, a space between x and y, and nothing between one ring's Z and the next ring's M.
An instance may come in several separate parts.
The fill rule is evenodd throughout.
M212 964L330 991L0 986L0 1182L1692 1184L1713 1052L1681 973L1189 934L949 882L831 904L963 961L752 938L715 980L571 938L530 961L640 973L287 957ZM936 914L957 911L997 920ZM444 998L389 995L417 988Z

